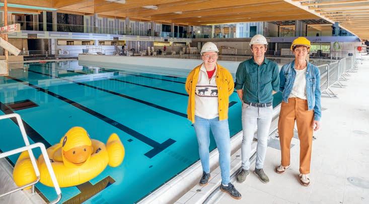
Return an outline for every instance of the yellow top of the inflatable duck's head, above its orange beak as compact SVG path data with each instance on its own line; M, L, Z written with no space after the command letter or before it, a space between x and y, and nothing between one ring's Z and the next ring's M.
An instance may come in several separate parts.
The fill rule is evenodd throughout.
M64 151L84 145L92 145L89 134L84 128L81 127L70 128L68 132L65 133L64 137L61 138L60 143L61 148Z

